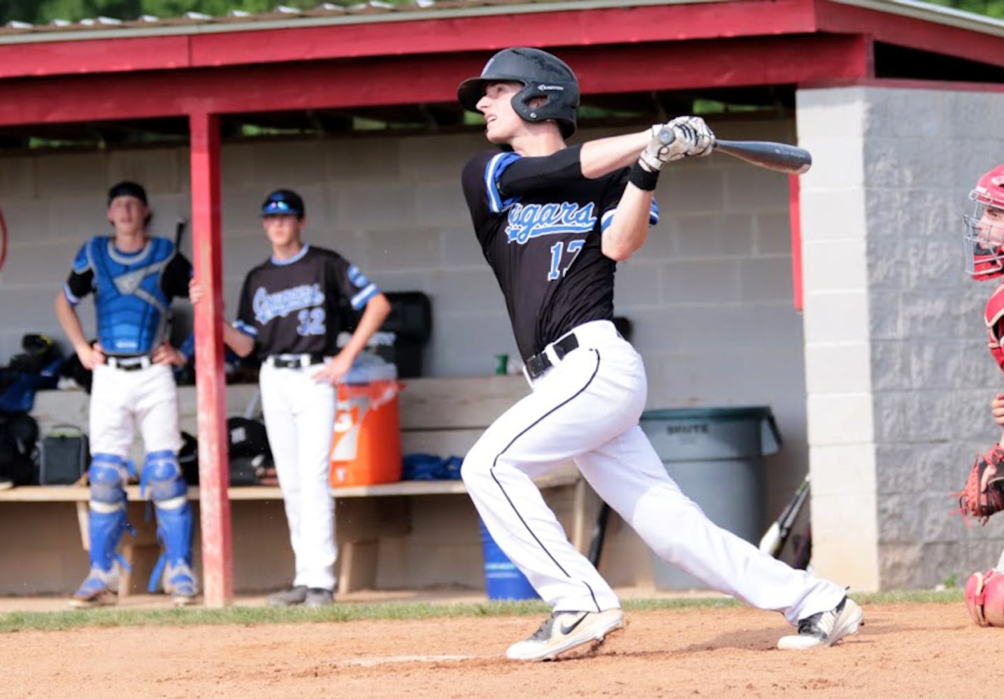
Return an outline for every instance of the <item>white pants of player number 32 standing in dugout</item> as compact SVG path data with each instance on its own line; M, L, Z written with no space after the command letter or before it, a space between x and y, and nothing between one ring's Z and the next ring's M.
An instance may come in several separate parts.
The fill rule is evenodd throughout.
M262 412L296 560L294 586L334 590L334 500L328 469L335 390L311 375L320 365L262 365Z

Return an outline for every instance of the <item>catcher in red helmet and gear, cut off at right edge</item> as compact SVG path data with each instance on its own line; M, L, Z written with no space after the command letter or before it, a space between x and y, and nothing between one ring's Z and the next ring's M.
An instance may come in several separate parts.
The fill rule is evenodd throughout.
M978 281L1004 275L1004 165L986 173L969 195L975 203L966 223L966 271ZM989 330L990 354L1004 371L1004 284L998 284L984 311ZM994 421L1004 428L1004 394L991 403ZM959 495L962 514L983 523L1004 509L1004 435L998 444L976 457ZM980 626L1004 626L1004 552L996 567L974 572L966 582L966 605L970 616Z

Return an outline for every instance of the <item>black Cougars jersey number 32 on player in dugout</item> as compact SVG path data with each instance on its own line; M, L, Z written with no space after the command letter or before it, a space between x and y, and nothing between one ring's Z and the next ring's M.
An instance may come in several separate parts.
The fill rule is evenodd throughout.
M380 289L336 252L304 245L288 260L248 272L234 327L255 338L258 357L338 354L338 307L358 310Z

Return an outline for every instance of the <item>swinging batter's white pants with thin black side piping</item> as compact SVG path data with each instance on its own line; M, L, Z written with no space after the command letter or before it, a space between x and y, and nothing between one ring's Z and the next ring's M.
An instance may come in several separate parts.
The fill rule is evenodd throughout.
M533 393L488 428L462 471L492 537L544 602L555 612L619 607L532 481L573 459L650 548L709 587L781 611L792 624L836 607L842 588L720 528L680 491L639 427L645 368L613 323L588 322L574 332L578 348L533 381Z

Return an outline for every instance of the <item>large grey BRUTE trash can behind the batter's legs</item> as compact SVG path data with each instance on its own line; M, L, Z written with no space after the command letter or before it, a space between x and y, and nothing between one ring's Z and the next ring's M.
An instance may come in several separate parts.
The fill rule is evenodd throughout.
M723 529L754 545L763 534L764 456L781 448L770 408L654 410L642 430L684 494ZM658 590L707 586L653 555Z

